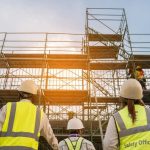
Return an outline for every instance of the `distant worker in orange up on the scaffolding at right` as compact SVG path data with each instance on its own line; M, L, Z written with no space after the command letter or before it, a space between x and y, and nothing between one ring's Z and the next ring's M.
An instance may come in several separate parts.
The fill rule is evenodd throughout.
M137 79L140 82L142 88L146 90L146 79L144 77L144 71L141 66L136 67L134 76L135 79Z

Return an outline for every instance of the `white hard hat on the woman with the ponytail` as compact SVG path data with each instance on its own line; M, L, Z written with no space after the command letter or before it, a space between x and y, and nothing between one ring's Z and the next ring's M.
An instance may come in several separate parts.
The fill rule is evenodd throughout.
M141 84L136 79L126 80L121 86L120 96L133 100L141 100L143 97Z

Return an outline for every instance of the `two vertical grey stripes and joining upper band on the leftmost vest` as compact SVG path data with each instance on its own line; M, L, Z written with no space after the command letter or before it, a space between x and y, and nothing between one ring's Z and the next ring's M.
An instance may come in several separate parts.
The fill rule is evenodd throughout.
M36 118L35 118L35 129L34 133L28 133L28 132L12 132L14 119L15 119L15 112L16 112L16 103L11 103L11 110L10 110L10 118L8 123L8 131L7 132L0 132L0 137L30 137L34 138L36 141L38 141L38 131L40 127L40 118L41 118L41 111L39 108L36 109Z

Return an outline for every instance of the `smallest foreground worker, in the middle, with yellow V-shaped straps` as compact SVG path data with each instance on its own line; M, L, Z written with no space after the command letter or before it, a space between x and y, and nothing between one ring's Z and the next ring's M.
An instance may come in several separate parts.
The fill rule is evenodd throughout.
M83 132L83 123L78 118L72 118L68 121L67 130L70 135L68 138L59 142L59 150L95 150L92 142L81 137Z

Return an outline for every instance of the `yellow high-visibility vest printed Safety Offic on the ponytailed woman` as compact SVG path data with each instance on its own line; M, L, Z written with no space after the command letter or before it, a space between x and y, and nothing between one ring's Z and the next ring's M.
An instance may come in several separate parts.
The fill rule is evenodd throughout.
M150 150L150 109L135 105L135 111L134 124L127 107L114 114L120 150Z

